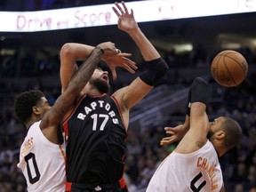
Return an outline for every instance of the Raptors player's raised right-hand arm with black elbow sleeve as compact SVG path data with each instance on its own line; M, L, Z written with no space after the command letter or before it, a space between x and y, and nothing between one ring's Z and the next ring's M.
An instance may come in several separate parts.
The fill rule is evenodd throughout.
M133 41L140 48L143 59L148 64L148 71L136 78L132 84L115 93L117 100L121 100L123 107L131 108L141 100L155 84L157 84L168 71L168 66L161 58L156 48L148 41L148 38L140 30L134 19L133 11L128 11L124 1L115 3L113 11L118 17L118 28L125 31L132 37Z

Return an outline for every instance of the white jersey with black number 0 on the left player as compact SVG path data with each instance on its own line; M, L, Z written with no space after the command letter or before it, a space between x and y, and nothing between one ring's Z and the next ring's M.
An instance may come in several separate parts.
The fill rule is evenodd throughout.
M20 163L28 192L64 192L66 182L63 146L44 137L39 124L32 124L20 148Z

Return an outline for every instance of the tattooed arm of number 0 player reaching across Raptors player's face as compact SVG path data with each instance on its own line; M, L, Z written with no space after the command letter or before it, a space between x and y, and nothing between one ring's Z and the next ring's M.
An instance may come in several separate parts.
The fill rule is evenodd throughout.
M72 78L70 77L71 80L68 83L66 91L60 95L52 108L44 115L40 128L49 140L54 140L54 137L56 137L56 129L61 119L68 112L68 108L74 103L78 93L82 91L85 84L91 78L104 52L117 54L115 44L110 42L102 43L93 48L90 57L74 72Z

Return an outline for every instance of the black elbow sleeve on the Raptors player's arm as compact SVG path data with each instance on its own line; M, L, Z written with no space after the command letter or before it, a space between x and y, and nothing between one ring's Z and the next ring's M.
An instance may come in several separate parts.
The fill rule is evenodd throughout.
M165 60L158 58L147 61L148 70L140 75L140 79L150 86L156 85L168 72L169 68Z

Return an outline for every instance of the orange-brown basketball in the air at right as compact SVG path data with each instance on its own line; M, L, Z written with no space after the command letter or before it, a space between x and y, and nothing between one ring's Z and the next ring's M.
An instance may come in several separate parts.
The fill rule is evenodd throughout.
M212 77L225 87L235 87L244 81L248 73L248 64L244 56L232 50L218 53L212 60Z

